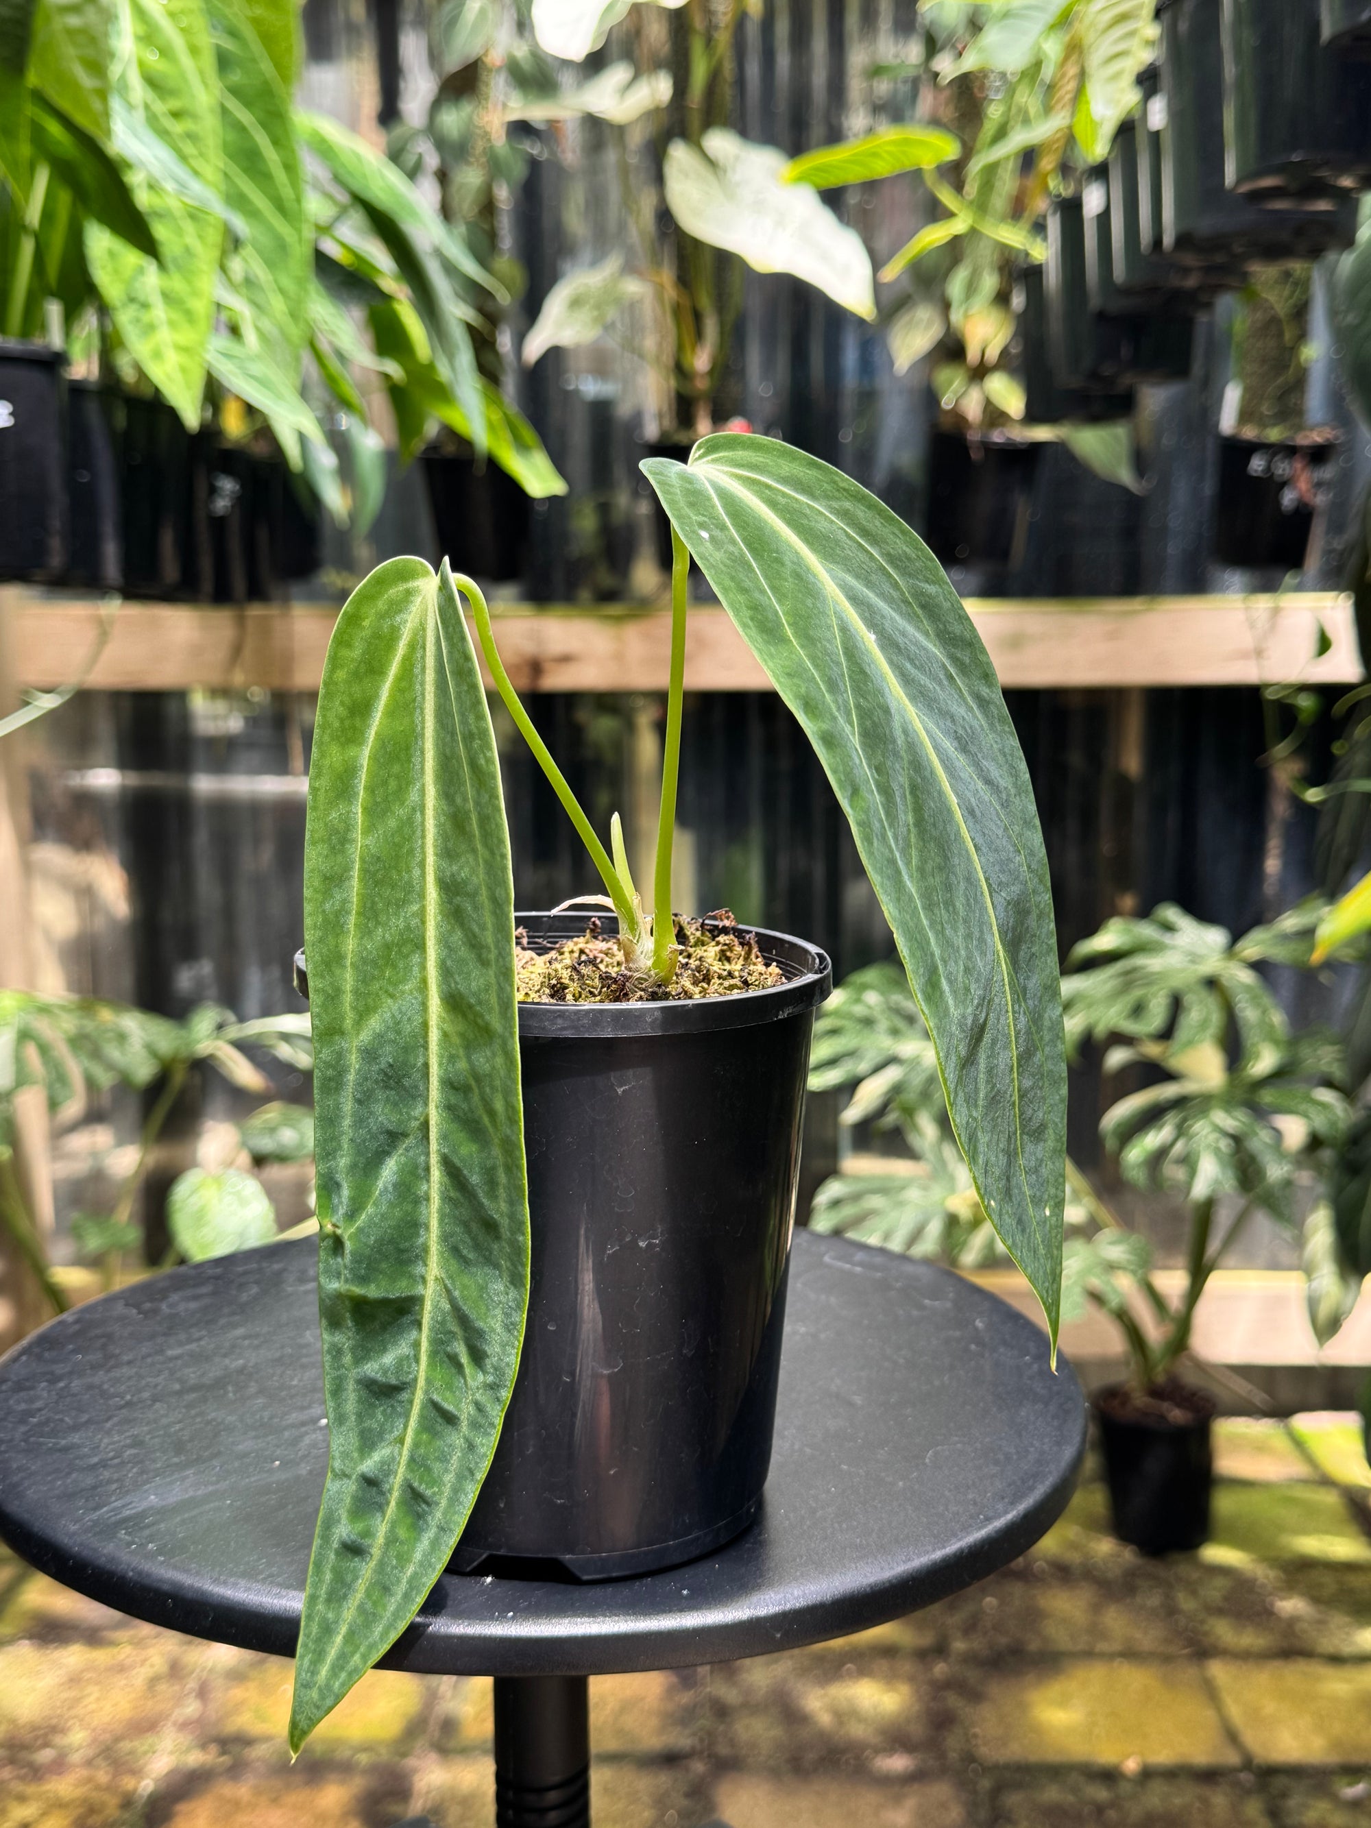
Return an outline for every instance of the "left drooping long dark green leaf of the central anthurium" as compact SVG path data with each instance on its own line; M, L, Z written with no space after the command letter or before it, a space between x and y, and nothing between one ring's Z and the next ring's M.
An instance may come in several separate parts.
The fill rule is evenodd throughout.
M329 643L309 768L324 1488L291 1746L409 1623L495 1450L528 1300L514 881L446 570L391 559Z

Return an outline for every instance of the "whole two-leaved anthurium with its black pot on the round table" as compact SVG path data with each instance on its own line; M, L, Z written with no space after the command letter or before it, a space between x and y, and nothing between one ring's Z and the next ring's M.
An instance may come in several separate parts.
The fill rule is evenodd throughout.
M671 910L689 558L834 782L972 1185L1055 1334L1051 894L989 656L923 543L837 470L740 433L643 470L675 550L651 909L618 817L605 846L543 746L470 578L391 559L329 647L305 952L331 1451L294 1746L453 1550L457 1578L642 1574L757 1510L828 962ZM600 876L589 923L515 916L462 600Z

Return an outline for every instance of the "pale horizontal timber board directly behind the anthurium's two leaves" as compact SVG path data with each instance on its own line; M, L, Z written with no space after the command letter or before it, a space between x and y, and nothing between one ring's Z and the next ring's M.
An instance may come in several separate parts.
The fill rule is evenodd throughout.
M1013 687L1342 686L1362 678L1351 598L1274 596L969 600L1000 684ZM0 589L15 684L51 691L318 691L336 609L124 603L99 660L101 603ZM665 609L495 609L519 691L664 691ZM1323 654L1320 643L1327 645ZM718 607L691 611L689 691L770 691Z

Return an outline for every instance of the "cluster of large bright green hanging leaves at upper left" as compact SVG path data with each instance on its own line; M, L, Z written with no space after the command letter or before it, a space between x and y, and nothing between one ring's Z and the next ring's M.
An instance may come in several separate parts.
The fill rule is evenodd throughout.
M402 455L442 420L528 494L563 492L477 373L477 300L501 283L397 165L292 110L296 75L294 0L0 0L4 335L69 327L73 351L155 388L188 430L207 409L236 441L267 428L362 530L384 448L358 371L400 397Z

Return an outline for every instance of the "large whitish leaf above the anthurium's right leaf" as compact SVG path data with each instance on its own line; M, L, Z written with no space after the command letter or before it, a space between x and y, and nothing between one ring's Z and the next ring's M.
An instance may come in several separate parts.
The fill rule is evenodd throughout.
M808 185L786 185L784 152L713 126L702 146L673 139L662 172L667 208L696 241L740 254L757 272L790 272L859 318L876 316L872 261Z

